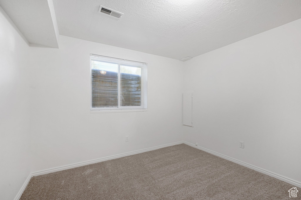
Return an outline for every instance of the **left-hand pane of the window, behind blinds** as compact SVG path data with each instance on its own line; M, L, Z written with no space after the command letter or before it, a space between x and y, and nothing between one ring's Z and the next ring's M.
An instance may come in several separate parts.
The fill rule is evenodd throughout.
M118 107L118 64L91 60L92 107Z

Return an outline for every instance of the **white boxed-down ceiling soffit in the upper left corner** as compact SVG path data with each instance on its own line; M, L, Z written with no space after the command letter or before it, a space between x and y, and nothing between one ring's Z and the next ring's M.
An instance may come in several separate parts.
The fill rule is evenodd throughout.
M0 6L29 43L58 48L59 32L52 0L0 0Z

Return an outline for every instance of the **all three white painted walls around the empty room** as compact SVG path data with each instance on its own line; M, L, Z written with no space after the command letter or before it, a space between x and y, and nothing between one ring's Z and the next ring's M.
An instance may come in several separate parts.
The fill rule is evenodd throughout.
M183 63L66 36L29 47L0 8L0 199L30 172L183 139L301 181L300 35L301 19ZM148 63L147 112L89 112L90 53Z

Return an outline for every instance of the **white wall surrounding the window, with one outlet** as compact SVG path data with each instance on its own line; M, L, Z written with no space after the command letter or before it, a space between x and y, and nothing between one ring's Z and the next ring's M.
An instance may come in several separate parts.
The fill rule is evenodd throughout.
M66 36L31 53L33 172L182 140L181 61ZM90 113L90 53L148 63L146 112Z

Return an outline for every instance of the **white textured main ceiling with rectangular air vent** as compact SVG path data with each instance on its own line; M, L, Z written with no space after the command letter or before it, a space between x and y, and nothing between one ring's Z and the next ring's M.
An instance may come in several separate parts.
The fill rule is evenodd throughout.
M124 13L98 13L103 5ZM182 59L301 18L300 0L54 0L61 35Z

